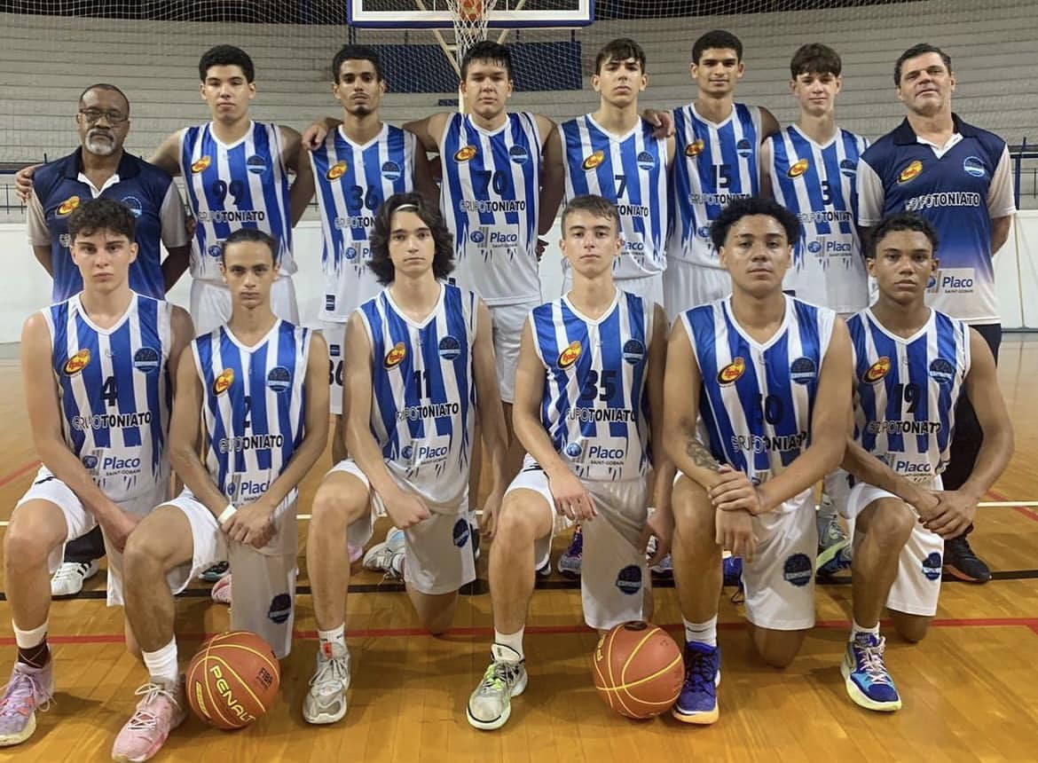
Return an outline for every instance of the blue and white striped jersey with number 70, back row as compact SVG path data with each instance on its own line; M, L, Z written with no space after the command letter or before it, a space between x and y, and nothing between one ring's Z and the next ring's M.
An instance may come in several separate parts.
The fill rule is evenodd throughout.
M491 306L540 301L541 134L534 114L508 114L493 132L452 115L440 163L440 210L455 236L452 282Z

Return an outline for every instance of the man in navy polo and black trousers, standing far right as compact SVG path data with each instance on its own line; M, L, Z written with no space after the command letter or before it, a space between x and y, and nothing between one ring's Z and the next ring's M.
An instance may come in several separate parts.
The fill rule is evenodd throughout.
M923 215L940 237L941 267L927 288L928 304L976 328L998 361L1002 325L992 256L1006 243L1016 212L1009 149L999 136L952 112L955 74L939 48L924 43L902 53L894 84L907 114L862 157L858 224L872 227L902 211ZM959 404L943 478L953 490L968 479L982 440L969 399ZM948 542L945 570L987 582L991 571L973 552L966 533Z

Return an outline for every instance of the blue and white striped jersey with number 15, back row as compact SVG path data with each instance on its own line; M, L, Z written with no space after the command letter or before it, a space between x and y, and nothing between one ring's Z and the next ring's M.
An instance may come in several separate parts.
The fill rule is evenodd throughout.
M720 124L704 119L689 104L674 112L674 225L667 255L719 268L710 223L734 198L760 194L761 110L735 104Z

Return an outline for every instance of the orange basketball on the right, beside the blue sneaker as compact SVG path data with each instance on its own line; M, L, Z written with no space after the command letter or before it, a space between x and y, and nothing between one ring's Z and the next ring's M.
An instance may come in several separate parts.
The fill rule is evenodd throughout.
M592 665L602 702L629 718L651 718L671 709L685 680L681 649L652 623L623 623L595 648Z

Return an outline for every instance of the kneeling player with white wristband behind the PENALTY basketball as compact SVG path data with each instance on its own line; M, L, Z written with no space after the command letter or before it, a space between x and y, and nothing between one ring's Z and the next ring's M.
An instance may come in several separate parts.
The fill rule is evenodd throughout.
M258 633L279 658L292 646L297 487L328 440L327 355L320 334L271 309L278 242L240 228L222 247L230 321L196 337L176 371L169 459L186 487L127 544L127 617L148 679L117 761L153 757L187 714L173 593L214 562L239 573L231 629Z

